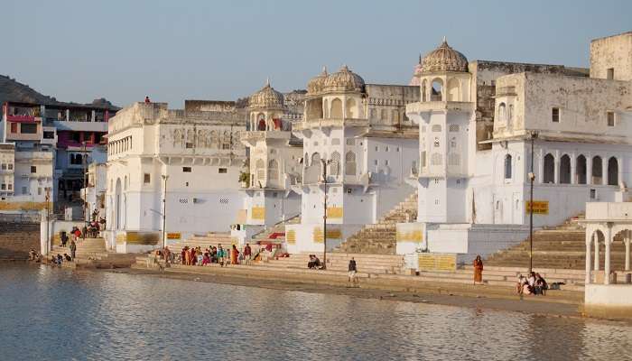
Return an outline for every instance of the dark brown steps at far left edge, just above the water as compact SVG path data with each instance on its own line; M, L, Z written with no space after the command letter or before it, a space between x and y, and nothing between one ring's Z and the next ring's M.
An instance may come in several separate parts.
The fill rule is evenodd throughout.
M31 249L40 251L39 223L0 223L0 260L27 260Z

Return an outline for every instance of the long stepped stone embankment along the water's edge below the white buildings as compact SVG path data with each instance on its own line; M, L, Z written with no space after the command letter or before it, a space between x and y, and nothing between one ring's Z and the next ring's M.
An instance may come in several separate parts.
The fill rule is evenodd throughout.
M345 294L362 298L434 303L475 309L510 310L548 316L581 317L582 292L550 291L520 298L510 287L448 282L416 282L414 276L359 273L358 285L346 273L314 270L270 270L259 266L182 266L159 270L135 264L112 272L216 282L274 290Z

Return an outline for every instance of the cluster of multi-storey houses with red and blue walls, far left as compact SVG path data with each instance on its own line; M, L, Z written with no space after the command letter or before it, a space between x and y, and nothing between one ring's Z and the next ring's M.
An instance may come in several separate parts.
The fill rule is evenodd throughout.
M91 105L6 102L0 135L2 142L14 144L17 178L14 191L5 192L4 208L41 208L46 190L51 202L79 200L84 169L107 160L104 135L116 110L104 99ZM18 173L18 164L29 171Z

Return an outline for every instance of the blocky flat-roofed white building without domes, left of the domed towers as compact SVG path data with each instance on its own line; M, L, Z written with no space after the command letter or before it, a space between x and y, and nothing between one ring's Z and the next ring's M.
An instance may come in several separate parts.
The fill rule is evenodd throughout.
M244 204L245 116L234 102L125 106L108 123L107 245L136 252L227 231ZM166 218L163 218L166 199ZM166 220L166 222L164 221Z

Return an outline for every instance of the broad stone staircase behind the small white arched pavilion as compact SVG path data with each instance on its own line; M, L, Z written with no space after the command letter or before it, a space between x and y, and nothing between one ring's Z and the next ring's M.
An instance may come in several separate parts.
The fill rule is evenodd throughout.
M535 269L585 270L586 234L578 220L579 215L568 219L558 227L546 227L534 231L533 265ZM592 259L594 261L594 246ZM490 255L485 265L504 267L529 266L529 238L522 243ZM605 245L599 242L599 265L603 269ZM613 270L625 267L625 245L615 236L611 245L610 264Z

